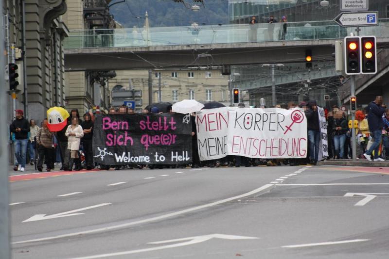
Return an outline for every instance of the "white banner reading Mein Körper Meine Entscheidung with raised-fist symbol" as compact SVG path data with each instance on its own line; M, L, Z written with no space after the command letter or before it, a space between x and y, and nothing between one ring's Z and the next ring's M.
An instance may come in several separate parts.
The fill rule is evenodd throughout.
M249 158L305 158L307 120L300 108L236 108L196 114L200 160L226 155Z

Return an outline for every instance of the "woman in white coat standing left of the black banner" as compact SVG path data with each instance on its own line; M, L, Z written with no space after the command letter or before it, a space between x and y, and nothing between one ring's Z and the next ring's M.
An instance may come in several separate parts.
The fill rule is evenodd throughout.
M78 125L77 117L71 118L71 125L66 129L65 136L68 137L68 149L70 150L69 170L71 171L74 159L79 158L78 150L80 149L81 138L84 136L82 127Z

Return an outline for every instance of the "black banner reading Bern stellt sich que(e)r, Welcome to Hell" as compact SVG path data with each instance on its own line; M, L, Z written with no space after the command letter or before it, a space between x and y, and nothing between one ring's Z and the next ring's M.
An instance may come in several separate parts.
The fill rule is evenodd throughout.
M107 165L192 162L188 115L108 114L96 116L93 161Z

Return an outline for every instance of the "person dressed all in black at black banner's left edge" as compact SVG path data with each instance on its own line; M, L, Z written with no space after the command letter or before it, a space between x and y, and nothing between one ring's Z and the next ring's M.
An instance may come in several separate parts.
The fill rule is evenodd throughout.
M81 123L81 127L84 130L84 137L81 139L82 146L84 147L85 162L87 170L93 168L93 152L92 152L92 137L93 137L93 122L90 114L84 114L84 121Z

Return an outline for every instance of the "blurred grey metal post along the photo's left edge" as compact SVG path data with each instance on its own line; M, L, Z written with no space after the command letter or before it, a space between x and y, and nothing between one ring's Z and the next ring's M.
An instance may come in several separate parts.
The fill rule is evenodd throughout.
M4 1L0 1L0 28L4 28ZM4 65L4 44L0 44L0 65ZM7 64L8 65L8 64ZM0 258L9 259L9 213L8 213L8 139L7 137L7 99L6 99L5 75L0 73Z

